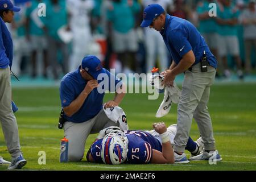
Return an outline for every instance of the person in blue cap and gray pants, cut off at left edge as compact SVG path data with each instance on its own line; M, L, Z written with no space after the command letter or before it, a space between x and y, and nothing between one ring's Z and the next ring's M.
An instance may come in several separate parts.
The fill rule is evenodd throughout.
M11 154L11 163L0 157L0 164L10 163L8 169L20 169L27 161L22 156L18 125L11 106L11 76L13 64L13 40L5 23L11 23L14 12L20 11L10 0L0 1L0 122L5 142Z

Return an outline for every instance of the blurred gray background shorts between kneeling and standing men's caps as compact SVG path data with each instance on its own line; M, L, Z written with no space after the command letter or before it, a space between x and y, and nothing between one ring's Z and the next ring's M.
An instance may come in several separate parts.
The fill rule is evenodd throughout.
M138 50L137 35L135 30L130 30L126 34L113 31L113 49L116 53L136 52Z

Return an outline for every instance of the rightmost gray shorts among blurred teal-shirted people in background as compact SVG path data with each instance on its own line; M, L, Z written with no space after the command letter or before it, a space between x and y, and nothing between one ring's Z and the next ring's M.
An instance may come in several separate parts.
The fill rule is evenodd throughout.
M219 36L218 54L223 57L230 54L231 56L240 55L239 43L237 36Z

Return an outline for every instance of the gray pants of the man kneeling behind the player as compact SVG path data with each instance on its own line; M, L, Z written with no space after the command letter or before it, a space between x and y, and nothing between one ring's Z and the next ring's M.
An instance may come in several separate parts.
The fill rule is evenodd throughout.
M94 118L86 122L65 122L64 136L68 139L68 160L80 161L84 156L85 142L88 135L98 133L109 126L119 126L119 123L111 121L103 109Z

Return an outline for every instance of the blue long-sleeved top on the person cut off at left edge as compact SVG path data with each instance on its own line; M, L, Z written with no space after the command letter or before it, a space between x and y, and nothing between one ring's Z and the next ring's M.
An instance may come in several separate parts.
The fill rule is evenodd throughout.
M13 40L6 27L5 22L0 18L0 68L5 69L13 64Z

